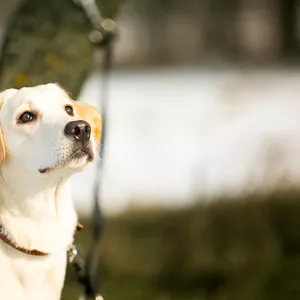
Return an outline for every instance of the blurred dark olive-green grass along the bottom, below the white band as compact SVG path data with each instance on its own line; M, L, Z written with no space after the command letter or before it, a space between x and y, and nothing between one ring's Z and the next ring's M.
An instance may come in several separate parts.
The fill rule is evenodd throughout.
M104 299L300 299L299 195L108 218L100 267ZM83 248L90 242L85 225L77 235ZM63 299L78 292L70 270Z

